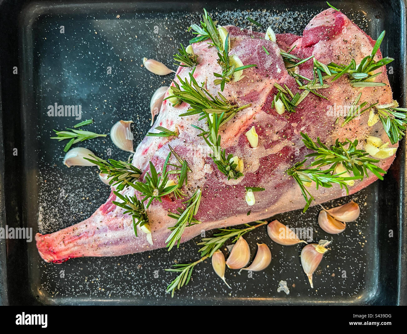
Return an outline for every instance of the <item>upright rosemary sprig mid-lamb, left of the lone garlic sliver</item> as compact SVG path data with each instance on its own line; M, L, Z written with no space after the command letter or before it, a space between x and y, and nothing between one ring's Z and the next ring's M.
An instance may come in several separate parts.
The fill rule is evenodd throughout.
M216 164L218 169L225 174L229 179L238 179L243 176L243 173L236 170L237 164L231 162L233 154L229 154L226 157L225 150L221 148L221 135L219 135L219 127L222 124L223 113L212 114L212 117L206 113L206 118L208 122L208 131L200 128L199 126L193 125L194 128L201 131L198 135L204 138L206 144L211 148L212 153L209 156L213 159L213 162Z

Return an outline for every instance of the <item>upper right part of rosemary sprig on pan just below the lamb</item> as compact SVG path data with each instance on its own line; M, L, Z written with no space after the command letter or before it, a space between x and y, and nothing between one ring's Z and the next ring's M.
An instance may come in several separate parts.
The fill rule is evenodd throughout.
M202 242L197 245L202 246L199 249L201 257L212 257L213 253L221 248L228 239L232 239L232 243L236 242L243 234L254 230L260 226L267 224L267 221L256 220L256 225L245 224L247 228L219 228L219 233L213 234L213 237L203 238Z

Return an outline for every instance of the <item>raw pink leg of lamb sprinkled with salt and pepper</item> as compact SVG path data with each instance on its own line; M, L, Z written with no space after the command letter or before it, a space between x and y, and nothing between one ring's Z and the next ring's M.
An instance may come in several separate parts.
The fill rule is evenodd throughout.
M335 124L336 116L327 115L329 106L350 105L360 92L361 102L392 102L392 91L385 68L381 69L383 73L376 77L376 81L384 82L386 86L353 88L346 76L342 76L329 88L321 91L329 100L310 93L300 103L296 113L286 112L278 115L271 108L271 101L277 93L275 82L281 86L287 84L294 93L299 91L285 69L280 48L287 51L295 46L293 54L302 58L314 55L315 59L324 64L348 64L352 58L358 63L371 53L374 41L344 14L333 9L323 11L306 26L302 38L292 34L279 34L277 43L263 39L263 33L249 35L249 31L238 27L225 28L232 40L230 54L237 55L245 65L258 65L256 68L246 69L243 79L226 84L223 91L226 98L239 105L252 104L237 113L221 129L222 148L226 149L227 154L243 157L244 177L228 181L219 172L212 159L208 158L208 146L201 137L197 137L199 131L190 126L197 124L205 127L204 121L199 121L196 115L179 117L179 114L188 109L188 105L182 103L173 107L168 100L164 101L153 128L164 126L173 131L177 130L179 136L145 137L133 159L134 166L141 170L149 170L150 160L160 170L171 142L177 153L188 161L193 172L188 174L187 191L192 194L198 187L202 190L201 205L196 216L202 223L187 227L182 242L196 236L201 230L247 223L280 212L303 208L304 199L298 185L285 173L296 161L301 161L304 155L310 153L304 147L300 131L313 139L319 136L327 144L333 144L337 138L341 141L345 138L359 139L359 147L362 148L367 135L374 135L380 137L383 142L388 142L380 122L372 127L367 125L368 113L343 127L340 126L341 121ZM265 53L263 46L269 55ZM198 83L203 82L212 95L216 95L219 86L213 84L213 73L219 73L220 67L217 64L215 48L208 49L206 42L194 44L193 48L199 55L199 65L194 77ZM380 58L379 51L376 59ZM300 74L311 77L312 67L311 60L300 65L298 70ZM188 67L179 67L177 75L184 78L188 76L189 71ZM259 145L256 148L250 147L245 136L252 126L256 127L259 137ZM397 144L394 145L396 146ZM383 159L379 166L387 170L393 160L394 156ZM350 193L357 192L375 180L376 177L370 175L363 181L356 181L355 185L350 187ZM266 189L255 193L256 203L253 206L248 206L245 201L245 186ZM310 191L317 199L313 204L345 195L338 186ZM127 195L134 193L132 188L122 192ZM81 223L55 233L37 234L37 248L42 258L48 262L63 262L74 257L117 256L165 247L165 240L171 233L168 227L176 222L169 218L167 213L168 210L175 212L177 207L182 207L180 200L168 196L163 198L162 203L153 202L149 207L153 246L147 242L143 232L139 231L138 237L135 237L131 218L123 215L123 210L112 204L113 200L115 195L112 193L105 204ZM251 214L248 216L249 210Z

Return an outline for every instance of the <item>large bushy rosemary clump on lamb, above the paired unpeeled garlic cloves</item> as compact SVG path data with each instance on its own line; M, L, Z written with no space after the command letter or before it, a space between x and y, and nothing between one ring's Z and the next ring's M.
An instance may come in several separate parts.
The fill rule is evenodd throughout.
M375 165L379 160L368 157L368 153L365 150L358 150L356 148L358 144L357 140L351 142L349 139L346 139L345 142L341 143L337 139L334 145L327 147L321 142L319 137L317 138L317 142L314 142L305 133L301 132L301 136L303 137L302 141L305 146L315 152L306 155L306 159L303 161L296 162L293 167L286 170L286 173L293 177L301 189L302 196L306 202L303 212L305 212L312 201L315 200L309 190L305 188L306 186L311 186L312 181L315 182L316 189L318 189L319 186L330 188L333 184L339 184L341 188L346 189L346 193L348 194L347 181L356 179L362 180L363 177L368 176L368 170L381 180L383 180L381 173L386 174L383 169ZM348 147L345 147L346 145ZM309 157L313 157L314 160L311 164L306 166L305 163ZM335 174L337 164L341 164L346 171ZM328 165L330 165L329 168L321 169ZM352 173L353 176L341 176L344 173Z

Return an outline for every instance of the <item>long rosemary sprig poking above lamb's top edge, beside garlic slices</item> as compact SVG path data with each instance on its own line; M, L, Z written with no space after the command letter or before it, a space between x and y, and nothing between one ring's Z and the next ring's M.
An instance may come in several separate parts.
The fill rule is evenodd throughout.
M208 15L208 11L204 9L204 15L202 15L203 21L200 21L200 26L197 24L192 24L188 31L193 30L193 34L200 35L189 42L196 43L200 41L204 41L210 39L212 42L208 43L210 46L215 46L218 51L218 64L221 66L222 73L214 73L215 77L219 77L221 79L215 79L214 84L221 85L221 91L225 88L225 84L230 82L233 79L233 73L237 71L242 71L244 69L248 69L250 67L257 66L255 64L245 65L236 67L235 64L231 64L230 56L229 56L229 33L226 36L225 42L222 42L221 35L219 30L217 29L215 23L213 22L212 18Z

